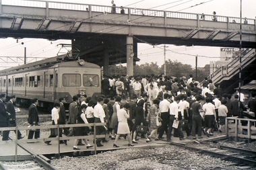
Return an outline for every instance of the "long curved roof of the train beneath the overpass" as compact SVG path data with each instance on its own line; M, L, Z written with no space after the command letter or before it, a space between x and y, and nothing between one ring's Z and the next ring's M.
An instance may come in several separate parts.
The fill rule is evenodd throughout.
M54 56L54 57L46 58L44 60L31 62L26 65L20 65L17 67L11 67L9 69L4 69L4 70L0 71L0 75L28 71L28 70L32 70L32 69L39 69L41 67L42 68L46 68L46 67L77 67L77 65L79 65L77 60L64 61L63 59L61 59L61 56ZM91 69L100 69L100 67L98 65L90 63L90 62L84 62L83 67L91 68Z

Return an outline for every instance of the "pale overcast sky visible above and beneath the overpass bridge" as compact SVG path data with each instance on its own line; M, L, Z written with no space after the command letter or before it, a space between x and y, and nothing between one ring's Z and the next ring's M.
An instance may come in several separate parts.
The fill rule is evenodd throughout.
M94 5L111 5L110 0L61 1ZM255 19L255 0L115 0L115 4L117 7L123 6L141 9L164 9L166 11L205 13L210 15L212 15L213 11L216 11L216 15L240 17L241 1L242 17ZM41 60L42 58L56 56L58 51L61 49L59 46L57 46L57 44L61 43L70 44L71 42L69 40L56 40L52 42L49 40L32 38L23 38L17 41L13 38L0 38L0 70L19 65L17 62L23 62L25 47L26 56L28 57L27 62L32 62ZM65 52L65 50L61 50L61 52ZM210 64L211 60L220 60L220 58L218 58L220 56L220 47L174 46L166 44L166 60L177 60L183 64L188 64L195 67L195 56L191 55L199 55L198 67L204 67L205 65ZM6 56L19 56L20 58L13 59L6 58ZM145 62L156 62L158 66L161 66L164 63L164 44L160 44L158 46L139 44L137 56L140 58L137 65L144 64Z

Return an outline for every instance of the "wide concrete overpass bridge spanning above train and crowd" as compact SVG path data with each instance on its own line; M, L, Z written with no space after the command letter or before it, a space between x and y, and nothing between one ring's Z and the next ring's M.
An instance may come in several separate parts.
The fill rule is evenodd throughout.
M103 66L127 62L133 75L137 43L185 46L256 46L256 21L152 9L62 3L36 0L0 0L0 37L72 40L80 58ZM216 21L213 18L216 17ZM233 22L234 21L234 22ZM246 24L245 24L246 23ZM75 55L73 55L75 56Z

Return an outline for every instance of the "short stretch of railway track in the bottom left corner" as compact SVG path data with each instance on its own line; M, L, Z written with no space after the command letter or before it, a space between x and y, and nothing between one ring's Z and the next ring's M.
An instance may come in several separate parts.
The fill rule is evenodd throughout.
M10 138L11 139L11 138ZM11 139L12 140L12 139ZM32 151L30 151L28 148L26 148L23 144L19 144L24 151L30 153L31 157L33 158L32 161L18 161L18 162L0 162L0 169L3 170L57 170L55 167L53 167L46 157L43 155L36 155Z

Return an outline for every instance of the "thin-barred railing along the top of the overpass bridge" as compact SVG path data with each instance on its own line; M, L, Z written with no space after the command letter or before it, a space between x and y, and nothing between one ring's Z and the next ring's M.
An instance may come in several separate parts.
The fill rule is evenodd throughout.
M65 3L57 1L39 1L39 0L1 0L0 5L15 5L24 7L41 7L46 9L65 9L65 10L76 10L76 11L96 11L102 13L111 13L112 6L107 5L90 5L84 3ZM116 13L120 13L121 7L115 7ZM227 17L221 15L207 15L199 13L183 13L176 11L162 11L155 9L139 9L139 8L129 8L123 7L125 14L129 15L145 15L145 16L155 16L155 17L173 17L181 19L195 19L201 21L213 21L216 18L216 22L228 22L239 24L253 24L256 25L255 19L247 19L240 17ZM47 11L47 10L46 10Z

